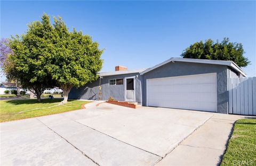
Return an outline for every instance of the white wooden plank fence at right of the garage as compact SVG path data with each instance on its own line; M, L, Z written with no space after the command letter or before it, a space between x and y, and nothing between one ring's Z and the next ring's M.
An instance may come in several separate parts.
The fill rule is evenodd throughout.
M229 78L228 113L256 115L256 77Z

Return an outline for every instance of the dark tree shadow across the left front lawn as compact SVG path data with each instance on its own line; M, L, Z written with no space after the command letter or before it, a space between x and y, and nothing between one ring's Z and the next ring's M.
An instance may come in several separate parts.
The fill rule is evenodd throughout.
M19 104L44 104L44 103L58 103L61 102L63 99L41 99L41 102L38 102L36 99L24 99L24 100L6 100L6 103L11 103L15 105ZM73 101L73 100L68 100Z

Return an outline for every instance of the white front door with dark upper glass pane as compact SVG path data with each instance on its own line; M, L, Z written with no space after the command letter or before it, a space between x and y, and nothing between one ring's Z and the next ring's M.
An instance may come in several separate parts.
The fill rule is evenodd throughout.
M135 101L135 77L125 77L125 101Z

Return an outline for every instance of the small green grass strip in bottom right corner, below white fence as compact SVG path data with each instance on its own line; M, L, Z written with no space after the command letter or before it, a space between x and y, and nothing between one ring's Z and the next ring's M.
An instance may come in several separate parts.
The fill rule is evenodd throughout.
M239 119L228 142L223 165L256 165L256 119Z

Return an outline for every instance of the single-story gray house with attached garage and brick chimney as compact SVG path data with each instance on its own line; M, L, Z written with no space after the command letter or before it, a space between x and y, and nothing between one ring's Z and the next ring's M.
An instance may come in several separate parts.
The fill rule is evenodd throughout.
M142 106L227 113L228 78L245 77L234 62L170 58L151 68L99 73L99 79L73 88L70 99L138 102Z

